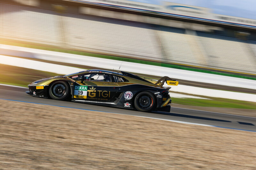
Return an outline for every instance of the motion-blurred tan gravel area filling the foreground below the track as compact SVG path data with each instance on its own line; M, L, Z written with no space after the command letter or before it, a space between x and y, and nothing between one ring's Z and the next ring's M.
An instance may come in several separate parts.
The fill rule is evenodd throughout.
M256 170L255 132L0 102L1 170Z

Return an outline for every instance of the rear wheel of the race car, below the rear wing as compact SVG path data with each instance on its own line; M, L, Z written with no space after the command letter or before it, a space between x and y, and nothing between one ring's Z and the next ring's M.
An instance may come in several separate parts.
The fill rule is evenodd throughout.
M151 92L140 92L134 99L134 107L141 112L150 112L156 106L156 100Z

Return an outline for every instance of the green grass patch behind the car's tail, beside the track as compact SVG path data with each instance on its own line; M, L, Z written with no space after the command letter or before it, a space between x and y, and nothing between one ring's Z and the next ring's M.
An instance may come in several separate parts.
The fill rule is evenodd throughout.
M205 97L205 96L204 96ZM211 98L212 100L206 99L191 99L191 98L172 98L172 103L190 105L190 106L203 106L203 107L225 107L225 108L241 108L241 109L256 109L256 103L223 99L223 98Z

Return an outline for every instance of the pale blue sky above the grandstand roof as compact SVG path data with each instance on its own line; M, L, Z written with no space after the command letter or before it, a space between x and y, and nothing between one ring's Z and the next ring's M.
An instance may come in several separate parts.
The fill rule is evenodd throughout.
M132 0L148 4L161 4L159 0ZM234 17L256 19L256 0L165 0L178 4L187 4L211 8L212 13Z

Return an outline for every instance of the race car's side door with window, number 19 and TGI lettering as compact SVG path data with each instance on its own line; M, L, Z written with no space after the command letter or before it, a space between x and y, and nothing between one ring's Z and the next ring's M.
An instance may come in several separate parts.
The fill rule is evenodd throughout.
M84 99L91 102L113 102L118 85L111 82L109 73L93 72L79 75L74 87L74 99Z

